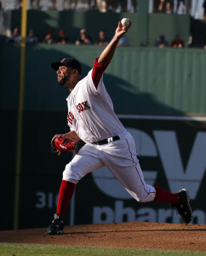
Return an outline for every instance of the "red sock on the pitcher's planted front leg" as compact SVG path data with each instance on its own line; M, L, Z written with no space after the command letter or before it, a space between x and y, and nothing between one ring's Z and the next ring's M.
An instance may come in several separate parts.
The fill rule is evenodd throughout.
M60 193L59 199L57 203L56 213L65 216L66 207L72 199L72 195L74 194L75 184L68 182L66 180L62 180L60 184Z

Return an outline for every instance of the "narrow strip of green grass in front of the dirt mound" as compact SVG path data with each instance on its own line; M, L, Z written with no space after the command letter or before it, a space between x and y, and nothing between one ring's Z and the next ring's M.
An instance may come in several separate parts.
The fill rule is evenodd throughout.
M164 251L164 250L139 250L129 248L101 248L101 247L66 247L53 245L37 245L23 243L0 243L1 256L57 256L57 255L78 255L78 256L159 256L159 255L206 255L206 252L189 251Z

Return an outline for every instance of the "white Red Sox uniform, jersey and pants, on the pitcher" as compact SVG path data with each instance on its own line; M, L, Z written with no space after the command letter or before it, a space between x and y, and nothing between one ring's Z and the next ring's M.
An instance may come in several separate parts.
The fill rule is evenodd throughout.
M86 144L66 165L63 179L77 183L87 173L106 166L135 200L153 201L156 190L145 183L134 139L113 111L102 71L98 85L94 85L92 73L97 66L100 67L100 63L95 60L93 69L66 99L68 125ZM119 139L114 141L113 137L117 136ZM94 144L104 139L106 144Z

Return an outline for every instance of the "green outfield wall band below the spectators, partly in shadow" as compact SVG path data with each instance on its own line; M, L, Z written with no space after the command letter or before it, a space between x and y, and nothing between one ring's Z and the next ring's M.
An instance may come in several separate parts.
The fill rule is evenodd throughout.
M65 56L75 57L82 62L85 76L102 50L98 46L29 45L26 49L25 109L66 110L68 90L58 86L50 63ZM15 110L19 90L19 46L3 45L0 67L0 107ZM116 113L205 114L205 67L206 51L203 49L119 47L104 80Z

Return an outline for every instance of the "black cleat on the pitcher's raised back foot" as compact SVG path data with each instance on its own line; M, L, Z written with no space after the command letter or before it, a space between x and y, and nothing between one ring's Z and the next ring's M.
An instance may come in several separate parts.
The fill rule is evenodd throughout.
M192 220L192 209L190 206L190 195L186 189L180 189L177 193L180 197L181 202L176 205L172 205L177 210L177 213L180 214L181 221L184 224L189 224Z

